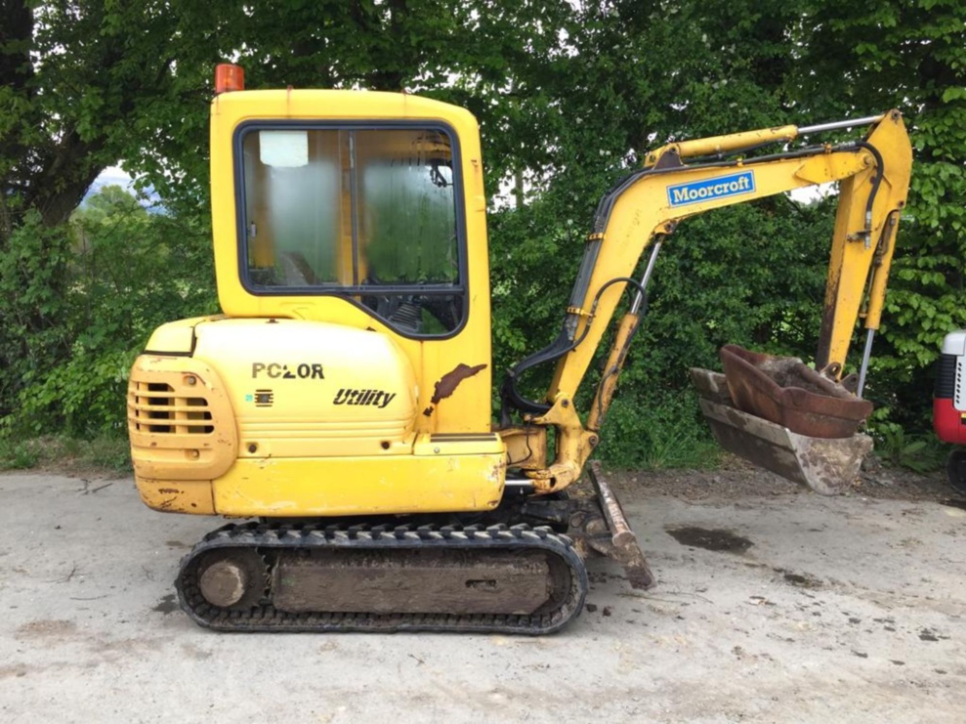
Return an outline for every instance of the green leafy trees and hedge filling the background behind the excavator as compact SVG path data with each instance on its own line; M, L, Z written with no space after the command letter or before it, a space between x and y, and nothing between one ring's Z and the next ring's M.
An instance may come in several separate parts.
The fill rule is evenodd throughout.
M519 208L497 210L490 224L497 384L553 337L594 205L647 148L899 108L915 167L867 394L877 405L870 428L894 451L887 458L914 459L928 448L915 436L928 435L930 367L943 335L966 326L963 0L457 3L415 14L303 3L298 12L259 8L258 22L226 24L243 28L241 36L212 35L214 16L188 4L155 18L142 42L123 30L143 9L89 5L78 14L43 5L36 37L31 29L8 43L22 60L12 68L31 72L17 70L0 88L11 109L0 123L8 141L0 153L7 433L118 432L128 364L151 330L214 310L204 190L203 98L211 89L201 78L214 57L241 52L243 36L251 87L323 78L406 88L477 115L489 192L520 181ZM172 27L185 33L172 36ZM297 53L289 52L293 38ZM333 53L347 38L362 50ZM124 62L103 64L116 56ZM177 63L158 68L158 59ZM42 217L69 209L51 200L65 189L82 193L92 169L122 157L177 214L149 214L116 189L69 224ZM57 159L69 166L59 175ZM658 262L603 456L660 466L708 445L687 368L717 366L725 343L810 358L832 214L829 203L801 207L780 197L681 225ZM525 388L539 395L550 375L534 371ZM592 368L582 409L597 378ZM12 459L30 458L17 450Z

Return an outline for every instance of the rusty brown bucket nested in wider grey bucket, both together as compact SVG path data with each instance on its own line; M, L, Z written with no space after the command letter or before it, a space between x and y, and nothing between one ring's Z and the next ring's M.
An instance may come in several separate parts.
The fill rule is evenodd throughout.
M823 495L834 495L855 482L872 450L872 438L855 432L870 404L830 380L815 379L818 374L809 368L811 376L804 374L805 381L782 379L795 370L777 361L781 358L732 346L722 350L722 358L730 376L693 368L691 379L701 412L725 450ZM801 368L798 372L804 373ZM797 384L782 386L776 377ZM811 392L810 383L818 389ZM833 386L838 388L834 394L820 394L833 392ZM814 399L820 397L828 399Z

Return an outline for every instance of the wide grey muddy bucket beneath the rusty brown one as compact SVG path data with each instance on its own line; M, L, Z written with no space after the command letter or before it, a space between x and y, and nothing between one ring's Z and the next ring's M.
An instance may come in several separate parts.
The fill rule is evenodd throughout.
M872 438L866 434L810 437L738 409L721 373L693 368L691 379L718 444L815 492L834 495L850 486L872 450Z

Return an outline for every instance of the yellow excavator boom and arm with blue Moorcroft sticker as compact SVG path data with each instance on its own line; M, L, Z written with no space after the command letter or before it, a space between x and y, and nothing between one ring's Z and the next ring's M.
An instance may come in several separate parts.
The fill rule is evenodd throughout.
M753 157L739 155L798 136L866 124L871 125L869 132L859 141ZM861 394L871 335L882 314L911 165L909 138L895 110L858 121L802 128L786 125L672 143L649 153L646 165L618 182L598 206L560 333L549 347L518 363L504 383L504 427L509 408L524 413L526 428L517 437L526 443L526 458L518 458L533 486L543 492L559 490L580 476L584 462L599 442L598 431L639 325L641 300L657 253L678 222L712 209L827 181L839 182L815 365L830 376L841 376L856 321L863 318L867 345L860 372ZM643 277L636 280L631 275L648 248L648 264ZM584 425L574 408L574 396L629 286L634 298L618 324L604 376ZM551 361L555 361L556 371L545 401L526 400L517 390L517 378L530 367ZM539 432L545 432L548 426L557 430L556 455L549 465L540 458L546 447ZM513 435L506 438L511 440L512 464Z

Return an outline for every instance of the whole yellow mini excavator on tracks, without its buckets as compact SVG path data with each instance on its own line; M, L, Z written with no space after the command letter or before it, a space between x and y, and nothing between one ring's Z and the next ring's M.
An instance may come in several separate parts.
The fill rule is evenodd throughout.
M159 327L128 386L144 502L247 519L181 564L182 607L202 626L548 633L580 613L590 555L649 585L586 463L681 219L838 181L816 367L838 379L857 320L878 327L911 165L898 112L671 143L601 200L559 334L508 373L495 425L473 117L405 94L245 91L242 78L219 66L212 102L223 314ZM783 150L852 126L866 135ZM625 292L582 416L575 395ZM546 396L527 399L520 377L551 363ZM585 466L594 494L574 495Z

